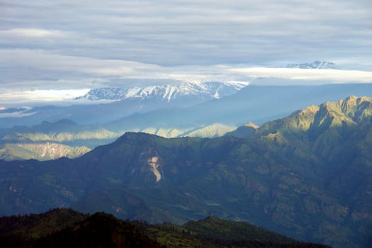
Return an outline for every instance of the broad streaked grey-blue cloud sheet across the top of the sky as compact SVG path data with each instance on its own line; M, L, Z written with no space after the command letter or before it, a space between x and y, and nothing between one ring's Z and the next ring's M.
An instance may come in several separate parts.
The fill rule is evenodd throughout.
M3 30L24 37L2 44L64 55L179 65L372 52L372 4L366 0L2 2ZM37 35L47 40L36 43Z

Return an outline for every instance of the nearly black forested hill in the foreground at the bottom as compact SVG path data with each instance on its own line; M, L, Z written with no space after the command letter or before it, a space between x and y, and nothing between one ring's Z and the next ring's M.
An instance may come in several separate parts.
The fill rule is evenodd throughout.
M324 247L298 242L245 222L212 216L187 222L149 225L106 213L85 215L55 209L39 215L0 218L4 247Z

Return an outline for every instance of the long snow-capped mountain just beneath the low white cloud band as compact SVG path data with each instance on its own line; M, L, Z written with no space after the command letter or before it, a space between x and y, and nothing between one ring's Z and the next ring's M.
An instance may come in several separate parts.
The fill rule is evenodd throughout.
M118 88L98 88L91 89L84 96L77 99L97 100L123 100L128 98L157 99L161 101L175 101L184 96L208 98L220 98L235 94L240 89L247 86L247 82L205 82L205 83L183 83L179 85L153 85L153 86L133 86Z

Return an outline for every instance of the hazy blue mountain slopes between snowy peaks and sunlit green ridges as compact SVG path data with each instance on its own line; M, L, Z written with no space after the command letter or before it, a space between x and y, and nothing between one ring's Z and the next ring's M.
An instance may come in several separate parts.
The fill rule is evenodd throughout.
M372 84L260 86L259 81L260 79L256 79L256 85L245 86L230 96L219 91L220 98L210 96L203 98L203 102L200 101L201 98L186 101L188 96L194 97L191 95L180 97L178 101L167 101L160 94L149 98L124 98L105 104L98 101L97 104L88 105L17 108L14 109L16 112L6 113L3 118L0 118L0 128L12 128L14 125L40 125L43 121L55 123L62 119L72 120L80 125L111 122L114 124L117 120L123 120L123 123L117 123L117 127L111 125L111 129L127 131L135 128L184 129L185 126L190 129L215 123L243 125L247 120L261 125L310 104L337 101L351 94L372 96ZM261 108L262 111L259 111ZM167 115L166 119L164 115ZM133 122L136 125L130 124ZM182 125L183 123L185 124Z

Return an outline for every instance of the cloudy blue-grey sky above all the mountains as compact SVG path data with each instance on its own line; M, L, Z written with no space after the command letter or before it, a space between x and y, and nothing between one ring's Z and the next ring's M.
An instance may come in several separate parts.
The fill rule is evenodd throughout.
M0 106L154 82L371 82L371 40L371 0L0 0ZM315 60L352 70L270 69Z

